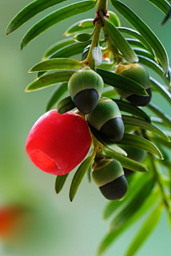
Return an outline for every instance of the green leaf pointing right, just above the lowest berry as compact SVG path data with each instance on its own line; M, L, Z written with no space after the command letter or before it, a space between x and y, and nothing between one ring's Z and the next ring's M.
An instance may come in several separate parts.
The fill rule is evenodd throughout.
M115 158L115 160L118 160L121 165L123 165L123 168L128 168L129 170L140 173L148 172L147 167L145 165L142 165L142 163L138 163L135 160L120 155L115 151L108 150L107 148L103 148L103 151L106 153L106 155L110 155Z

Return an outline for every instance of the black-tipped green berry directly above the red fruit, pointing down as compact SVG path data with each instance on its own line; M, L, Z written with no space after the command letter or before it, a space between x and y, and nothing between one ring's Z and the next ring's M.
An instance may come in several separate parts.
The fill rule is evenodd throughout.
M103 79L95 71L83 68L71 76L68 91L78 110L86 115L98 104L103 92Z

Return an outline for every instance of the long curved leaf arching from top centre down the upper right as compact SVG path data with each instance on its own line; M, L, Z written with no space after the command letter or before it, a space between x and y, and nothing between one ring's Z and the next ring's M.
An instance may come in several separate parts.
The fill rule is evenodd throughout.
M167 52L160 40L155 36L152 30L137 16L131 9L120 1L110 0L115 9L124 16L125 19L143 36L143 38L150 44L155 51L157 57L163 68L163 76L167 76L169 72L169 60Z

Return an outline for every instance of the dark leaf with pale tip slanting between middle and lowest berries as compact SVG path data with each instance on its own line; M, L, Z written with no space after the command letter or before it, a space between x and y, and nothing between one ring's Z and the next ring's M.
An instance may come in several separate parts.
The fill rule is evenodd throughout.
M98 130L95 130L95 128L93 128L93 126L90 126L90 124L88 124L90 130L92 131L93 135L95 135L95 138L98 139L98 141L104 145L106 148L108 148L109 150L112 150L120 155L123 156L127 156L127 153L125 152L125 150L123 150L123 148L120 148L118 145L115 144L115 142L113 142L112 140L105 138L105 136L103 136L102 134L100 134L98 132Z

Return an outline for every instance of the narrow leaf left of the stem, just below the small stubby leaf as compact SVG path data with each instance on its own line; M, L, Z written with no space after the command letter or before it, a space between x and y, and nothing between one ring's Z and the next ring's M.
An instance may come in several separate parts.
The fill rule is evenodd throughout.
M78 53L82 53L83 49L86 48L86 46L88 46L90 43L91 41L86 41L83 43L74 42L68 46L58 49L58 51L54 52L51 56L49 56L49 58L68 58Z

